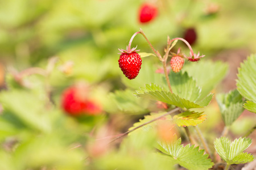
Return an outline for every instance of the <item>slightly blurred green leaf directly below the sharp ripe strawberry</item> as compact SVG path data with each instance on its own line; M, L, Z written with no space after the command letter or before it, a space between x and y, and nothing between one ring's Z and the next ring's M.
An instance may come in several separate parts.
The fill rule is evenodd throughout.
M125 90L125 91L115 91L110 94L110 99L113 100L118 107L118 109L125 113L130 114L143 114L148 112L148 104L149 101L135 97L133 95L133 91Z

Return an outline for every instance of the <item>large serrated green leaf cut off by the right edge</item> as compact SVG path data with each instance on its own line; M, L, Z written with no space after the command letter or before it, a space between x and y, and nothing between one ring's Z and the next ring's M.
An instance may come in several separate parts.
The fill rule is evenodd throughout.
M238 69L237 90L248 100L256 102L256 54L241 63Z

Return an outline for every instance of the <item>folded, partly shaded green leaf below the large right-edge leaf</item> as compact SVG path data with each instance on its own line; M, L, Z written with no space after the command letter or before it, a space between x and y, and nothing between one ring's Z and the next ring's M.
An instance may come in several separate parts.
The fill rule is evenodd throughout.
M225 125L232 125L244 110L242 96L237 90L233 90L228 94L218 94L216 99Z

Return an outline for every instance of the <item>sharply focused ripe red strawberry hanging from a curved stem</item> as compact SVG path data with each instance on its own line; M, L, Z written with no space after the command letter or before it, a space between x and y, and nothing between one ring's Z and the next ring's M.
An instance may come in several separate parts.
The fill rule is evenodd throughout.
M123 74L131 79L136 78L141 70L142 59L137 52L122 53L118 59L119 67Z

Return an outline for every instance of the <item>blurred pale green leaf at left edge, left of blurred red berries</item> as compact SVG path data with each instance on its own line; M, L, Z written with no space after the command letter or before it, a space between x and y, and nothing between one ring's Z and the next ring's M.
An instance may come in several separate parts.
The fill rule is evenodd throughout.
M17 126L27 126L47 132L51 130L47 113L44 112L45 100L28 91L4 91L0 94L4 112L2 117L15 121Z

